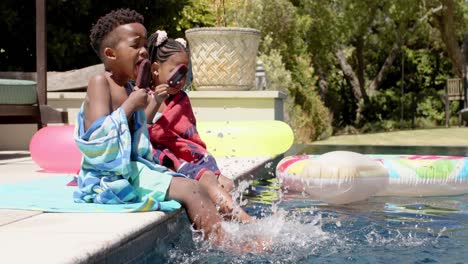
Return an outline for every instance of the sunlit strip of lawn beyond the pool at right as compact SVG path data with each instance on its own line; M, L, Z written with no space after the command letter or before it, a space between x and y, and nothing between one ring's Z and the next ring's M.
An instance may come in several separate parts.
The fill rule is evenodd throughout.
M468 127L403 130L396 132L333 136L319 145L468 146Z

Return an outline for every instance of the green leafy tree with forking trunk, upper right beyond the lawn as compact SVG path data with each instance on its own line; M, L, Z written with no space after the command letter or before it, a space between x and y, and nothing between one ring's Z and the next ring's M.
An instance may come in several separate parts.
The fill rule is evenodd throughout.
M298 1L304 14L314 17L309 49L322 79L326 97L335 61L352 89L357 104L354 123L365 121L363 111L384 82L401 47L427 32L428 16L418 1ZM382 56L385 54L384 56ZM370 61L371 60L371 61ZM376 64L380 61L380 64Z

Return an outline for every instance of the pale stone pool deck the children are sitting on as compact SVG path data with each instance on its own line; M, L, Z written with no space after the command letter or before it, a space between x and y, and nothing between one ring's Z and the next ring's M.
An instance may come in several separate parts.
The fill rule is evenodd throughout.
M233 178L248 177L270 160L217 158L220 169ZM27 151L0 151L0 184L63 176L39 170ZM2 263L141 261L144 254L167 243L187 225L181 214L185 212L44 213L0 209L0 258Z

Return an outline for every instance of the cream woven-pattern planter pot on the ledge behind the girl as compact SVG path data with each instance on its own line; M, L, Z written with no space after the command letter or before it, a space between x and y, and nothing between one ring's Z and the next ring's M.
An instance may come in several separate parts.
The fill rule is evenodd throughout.
M244 91L255 86L260 31L253 28L193 28L189 43L193 83L200 91Z

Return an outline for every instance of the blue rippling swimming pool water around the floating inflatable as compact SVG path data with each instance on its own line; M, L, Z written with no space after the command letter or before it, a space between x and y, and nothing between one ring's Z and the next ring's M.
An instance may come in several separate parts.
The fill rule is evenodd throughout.
M340 149L366 154L468 156L465 147L301 148L304 150L301 153L308 154ZM267 175L255 176L268 178ZM241 199L248 201L244 208L260 218L259 221L248 226L226 224L226 228L235 234L238 243L251 238L252 234L271 237L273 244L269 250L262 254L234 254L215 249L192 239L187 224L175 241L158 247L146 262L466 263L468 260L466 194L371 197L356 204L329 206L301 193L283 193L274 179L264 179L252 181L242 192Z

